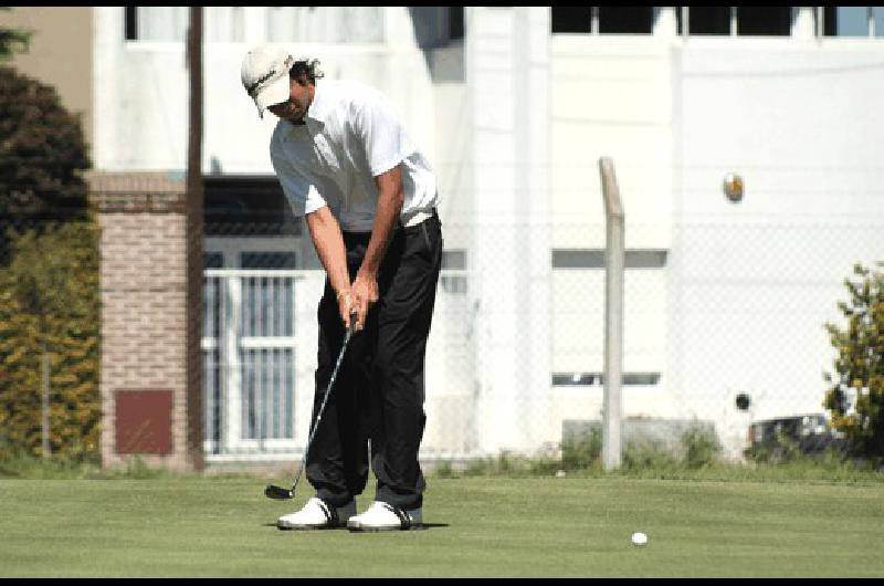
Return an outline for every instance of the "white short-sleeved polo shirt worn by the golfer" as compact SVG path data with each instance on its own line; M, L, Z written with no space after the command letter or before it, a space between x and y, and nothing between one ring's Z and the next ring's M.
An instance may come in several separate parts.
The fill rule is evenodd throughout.
M340 227L370 232L375 177L402 164L400 220L413 226L439 200L435 175L412 144L387 98L358 82L318 80L306 124L280 119L270 155L296 217L328 206Z

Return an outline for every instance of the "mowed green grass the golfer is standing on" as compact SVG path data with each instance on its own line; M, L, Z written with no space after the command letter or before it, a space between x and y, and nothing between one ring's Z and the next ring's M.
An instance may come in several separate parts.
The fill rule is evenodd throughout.
M0 576L884 576L881 483L431 478L431 526L378 534L280 531L309 486L263 488L2 480Z

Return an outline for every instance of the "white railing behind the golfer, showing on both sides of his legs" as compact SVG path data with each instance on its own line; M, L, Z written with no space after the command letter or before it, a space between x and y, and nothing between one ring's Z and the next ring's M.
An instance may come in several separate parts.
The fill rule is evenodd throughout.
M203 450L210 463L303 453L315 390L323 271L204 271ZM443 271L427 353L430 458L475 449L472 310L465 271Z

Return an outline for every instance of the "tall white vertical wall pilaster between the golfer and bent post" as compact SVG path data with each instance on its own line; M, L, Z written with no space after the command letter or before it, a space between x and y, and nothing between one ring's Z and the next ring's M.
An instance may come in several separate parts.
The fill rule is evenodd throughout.
M549 10L466 9L474 301L481 449L536 451L549 416Z

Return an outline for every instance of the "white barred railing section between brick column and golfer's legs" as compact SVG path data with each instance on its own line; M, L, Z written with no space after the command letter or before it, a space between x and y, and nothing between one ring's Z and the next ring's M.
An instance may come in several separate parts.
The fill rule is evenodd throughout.
M309 425L317 271L207 270L206 453L291 453ZM305 393L305 390L309 390Z

